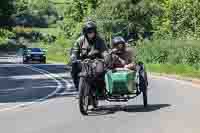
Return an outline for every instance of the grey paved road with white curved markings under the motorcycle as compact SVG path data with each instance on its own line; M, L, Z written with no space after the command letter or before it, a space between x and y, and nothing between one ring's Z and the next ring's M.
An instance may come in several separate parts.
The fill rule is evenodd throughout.
M152 76L147 109L139 96L128 103L101 102L99 110L85 117L64 65L14 64L16 60L0 58L2 133L200 132L200 86Z

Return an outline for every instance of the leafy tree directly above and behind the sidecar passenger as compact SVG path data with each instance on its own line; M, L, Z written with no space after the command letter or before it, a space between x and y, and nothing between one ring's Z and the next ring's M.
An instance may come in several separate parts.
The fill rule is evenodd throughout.
M103 0L95 17L106 40L121 35L126 39L151 33L152 17L156 15L154 1L146 0Z

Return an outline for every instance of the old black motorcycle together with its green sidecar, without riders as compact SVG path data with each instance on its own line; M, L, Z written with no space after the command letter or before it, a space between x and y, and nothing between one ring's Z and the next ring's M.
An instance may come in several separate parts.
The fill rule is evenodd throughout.
M89 106L98 108L99 100L127 102L140 94L143 95L144 107L147 107L147 81L141 62L136 71L125 68L106 69L103 59L87 58L80 63L79 109L82 115L88 115ZM97 64L104 66L103 73L97 72Z

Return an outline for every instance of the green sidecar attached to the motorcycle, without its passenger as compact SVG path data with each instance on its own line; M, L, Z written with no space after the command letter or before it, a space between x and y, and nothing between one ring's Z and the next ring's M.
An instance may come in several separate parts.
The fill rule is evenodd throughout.
M147 106L147 86L139 71L119 68L105 74L106 99L108 101L128 101L143 94L143 104Z

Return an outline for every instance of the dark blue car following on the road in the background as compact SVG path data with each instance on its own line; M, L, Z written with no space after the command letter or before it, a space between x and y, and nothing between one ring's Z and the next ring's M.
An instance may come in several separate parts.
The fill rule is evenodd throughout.
M46 64L46 53L41 48L26 48L23 53L23 63L44 63Z

